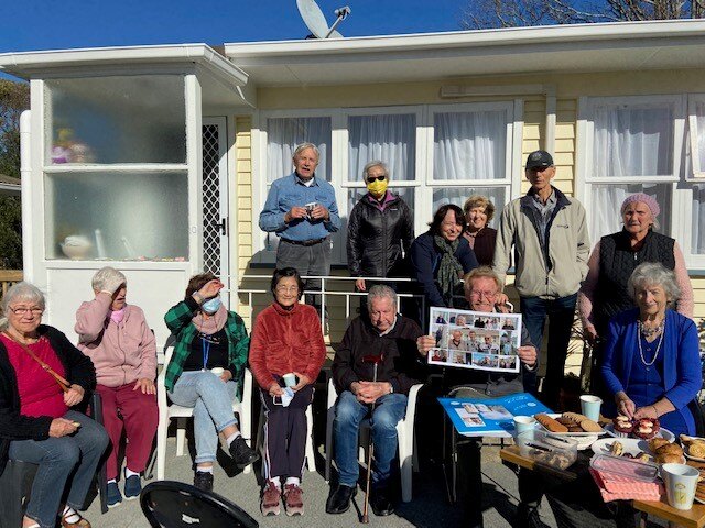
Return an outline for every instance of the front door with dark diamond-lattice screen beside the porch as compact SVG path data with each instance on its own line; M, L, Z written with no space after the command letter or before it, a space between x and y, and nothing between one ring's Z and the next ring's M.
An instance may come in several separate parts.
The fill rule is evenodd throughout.
M203 271L225 284L228 306L230 263L228 238L228 134L225 118L203 119Z

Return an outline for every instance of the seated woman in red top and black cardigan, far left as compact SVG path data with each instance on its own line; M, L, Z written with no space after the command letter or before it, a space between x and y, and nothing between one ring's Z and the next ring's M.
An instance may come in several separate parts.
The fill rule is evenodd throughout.
M44 306L29 283L15 284L2 299L0 474L8 459L39 465L23 528L54 528L57 514L64 528L90 528L76 509L84 506L108 436L70 408L94 388L96 373L66 336L41 324Z

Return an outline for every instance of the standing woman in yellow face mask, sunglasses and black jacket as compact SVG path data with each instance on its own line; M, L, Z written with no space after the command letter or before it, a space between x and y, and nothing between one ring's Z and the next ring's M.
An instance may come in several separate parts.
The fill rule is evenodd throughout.
M370 286L364 277L401 276L395 272L414 240L413 215L399 195L388 190L387 165L379 160L369 162L362 178L368 193L350 212L347 240L348 270L359 277L355 282L358 292Z

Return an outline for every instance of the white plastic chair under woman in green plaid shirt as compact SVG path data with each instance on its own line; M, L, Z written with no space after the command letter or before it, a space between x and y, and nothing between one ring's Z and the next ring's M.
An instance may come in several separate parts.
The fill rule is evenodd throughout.
M184 454L186 446L186 419L193 417L194 409L192 407L182 407L169 402L166 396L166 387L164 378L166 376L166 366L172 359L174 348L170 346L164 351L164 366L156 378L156 403L159 405L159 427L156 428L156 479L164 480L164 468L166 464L166 432L169 430L169 421L176 419L176 457ZM239 416L238 427L242 438L248 444L251 440L252 424L252 373L248 369L245 370L245 382L242 386L242 402L232 402L232 411ZM245 468L243 473L252 471L252 465Z

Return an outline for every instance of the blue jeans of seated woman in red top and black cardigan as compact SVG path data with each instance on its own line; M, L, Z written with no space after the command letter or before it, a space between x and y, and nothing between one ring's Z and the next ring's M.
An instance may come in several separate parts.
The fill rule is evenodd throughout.
M11 460L39 464L25 515L42 528L56 526L62 499L72 508L84 507L98 462L108 447L102 426L86 415L69 410L64 418L80 424L74 435L10 442Z

